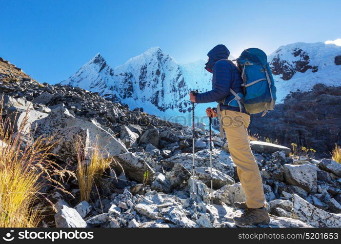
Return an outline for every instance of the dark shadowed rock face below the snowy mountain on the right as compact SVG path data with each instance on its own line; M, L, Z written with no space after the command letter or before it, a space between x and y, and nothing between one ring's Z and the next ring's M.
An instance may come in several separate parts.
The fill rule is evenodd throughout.
M317 84L312 91L294 92L264 117L252 115L249 128L282 145L297 143L329 155L335 143L341 144L341 87Z

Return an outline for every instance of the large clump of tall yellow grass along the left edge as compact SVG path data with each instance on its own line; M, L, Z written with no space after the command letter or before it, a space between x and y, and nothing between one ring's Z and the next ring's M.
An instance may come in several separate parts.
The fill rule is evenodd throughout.
M34 203L42 186L40 180L52 163L48 151L53 145L51 138L39 138L20 148L25 124L26 119L19 132L13 133L9 120L0 117L0 227L35 227L41 218Z

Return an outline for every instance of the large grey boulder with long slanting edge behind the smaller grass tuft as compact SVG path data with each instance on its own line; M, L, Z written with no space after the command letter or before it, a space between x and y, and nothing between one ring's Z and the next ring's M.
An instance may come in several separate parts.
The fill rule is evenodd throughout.
M42 134L52 134L56 129L80 127L84 130L89 130L90 143L97 142L103 155L115 156L127 152L127 149L122 142L119 142L109 132L98 126L94 121L88 122L80 120L71 115L69 111L63 107L51 111L47 117L36 121L36 123L37 130L34 135L35 137L39 137Z

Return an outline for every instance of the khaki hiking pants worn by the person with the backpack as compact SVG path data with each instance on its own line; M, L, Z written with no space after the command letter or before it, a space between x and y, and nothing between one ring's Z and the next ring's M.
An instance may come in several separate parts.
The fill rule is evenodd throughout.
M225 131L228 149L237 166L241 187L246 195L246 205L258 208L264 205L265 197L261 174L252 154L247 127L250 116L236 111L221 111L222 128Z

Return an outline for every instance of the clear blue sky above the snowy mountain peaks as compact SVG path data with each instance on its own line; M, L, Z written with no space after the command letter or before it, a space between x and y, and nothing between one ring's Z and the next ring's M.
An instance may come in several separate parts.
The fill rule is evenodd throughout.
M115 67L153 46L179 62L225 44L259 47L341 38L341 0L0 0L0 57L40 82L100 52Z

